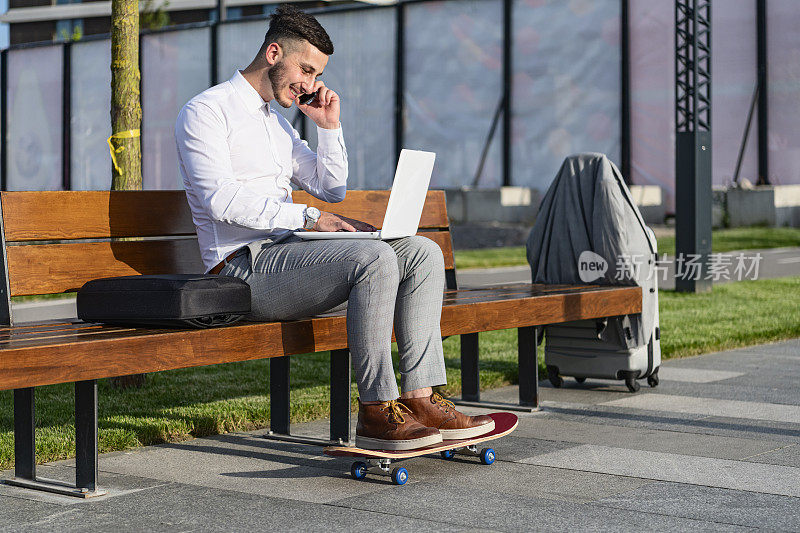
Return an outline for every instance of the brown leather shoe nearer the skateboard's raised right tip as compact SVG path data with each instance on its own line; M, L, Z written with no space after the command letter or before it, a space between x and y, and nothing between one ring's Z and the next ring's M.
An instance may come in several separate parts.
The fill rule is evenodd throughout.
M456 410L453 402L433 393L427 398L404 398L420 424L439 430L444 440L471 439L494 429L494 420L486 415L467 416Z

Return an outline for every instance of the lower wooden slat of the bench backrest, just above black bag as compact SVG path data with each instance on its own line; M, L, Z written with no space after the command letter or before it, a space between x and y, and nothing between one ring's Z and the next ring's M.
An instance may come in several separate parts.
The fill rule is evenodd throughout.
M426 231L442 248L445 268L454 268L450 233ZM12 296L79 289L97 278L136 274L196 274L205 271L197 239L9 246Z

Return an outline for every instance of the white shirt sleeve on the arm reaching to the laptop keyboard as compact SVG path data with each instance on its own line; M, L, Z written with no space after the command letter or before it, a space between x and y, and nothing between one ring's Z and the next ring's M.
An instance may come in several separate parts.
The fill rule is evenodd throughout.
M256 182L234 177L226 132L224 119L202 102L187 104L175 125L180 164L191 176L187 189L197 195L208 216L256 230L303 227L305 204L265 196Z

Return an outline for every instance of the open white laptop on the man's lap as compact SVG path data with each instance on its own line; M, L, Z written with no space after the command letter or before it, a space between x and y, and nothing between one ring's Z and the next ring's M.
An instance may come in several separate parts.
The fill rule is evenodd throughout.
M301 239L399 239L417 233L436 154L403 150L380 231L295 231Z

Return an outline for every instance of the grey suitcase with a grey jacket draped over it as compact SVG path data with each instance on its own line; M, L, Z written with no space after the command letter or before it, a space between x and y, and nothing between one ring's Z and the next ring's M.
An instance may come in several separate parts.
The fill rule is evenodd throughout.
M531 279L639 286L642 312L545 327L545 362L554 386L563 383L560 376L625 380L631 391L639 389L637 379L658 384L657 253L655 235L619 169L603 154L566 158L528 238Z

